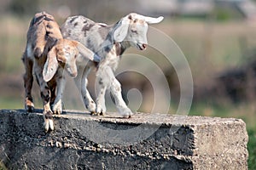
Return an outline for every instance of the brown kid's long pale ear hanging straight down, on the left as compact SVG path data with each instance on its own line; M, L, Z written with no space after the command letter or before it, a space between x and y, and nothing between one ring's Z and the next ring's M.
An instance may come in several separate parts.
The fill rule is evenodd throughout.
M43 77L45 82L49 82L49 80L55 76L55 72L57 71L58 66L56 50L55 48L51 48L44 64Z

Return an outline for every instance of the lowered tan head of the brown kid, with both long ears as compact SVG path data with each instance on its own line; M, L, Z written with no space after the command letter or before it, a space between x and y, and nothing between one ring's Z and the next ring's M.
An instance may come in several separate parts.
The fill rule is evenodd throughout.
M79 54L81 54L80 56L82 56L83 59L97 59L96 54L90 51L90 49L85 48L80 42L67 39L58 40L47 54L43 71L44 81L49 82L49 80L54 77L59 65L64 68L71 77L76 77L78 75L76 58Z

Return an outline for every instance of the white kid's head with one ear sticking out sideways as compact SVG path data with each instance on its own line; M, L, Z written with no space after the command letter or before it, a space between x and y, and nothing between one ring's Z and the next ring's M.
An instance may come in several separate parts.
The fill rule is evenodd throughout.
M113 40L115 42L127 41L131 46L143 50L147 47L148 24L157 24L164 17L152 18L141 14L131 13L119 20L114 28Z

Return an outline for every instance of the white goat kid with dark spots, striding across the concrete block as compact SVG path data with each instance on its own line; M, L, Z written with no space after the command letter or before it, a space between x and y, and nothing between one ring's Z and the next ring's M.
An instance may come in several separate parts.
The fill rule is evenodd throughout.
M125 105L121 95L121 85L114 77L120 55L125 49L136 47L143 50L147 47L148 24L160 23L164 17L152 18L131 13L119 20L115 25L108 26L85 18L73 16L67 18L61 33L63 37L82 42L87 48L101 56L101 61L96 72L96 104L91 99L87 90L87 76L91 65L80 65L78 62L78 77L75 78L77 86L81 89L81 97L85 107L96 115L106 113L105 93L110 89L114 103L119 113L124 117L132 115L131 110ZM85 67L85 68L84 68Z

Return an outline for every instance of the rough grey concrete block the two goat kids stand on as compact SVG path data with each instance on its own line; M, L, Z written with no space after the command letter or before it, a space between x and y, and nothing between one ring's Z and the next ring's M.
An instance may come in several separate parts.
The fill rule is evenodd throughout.
M240 119L67 111L44 133L37 112L0 110L0 161L8 169L247 169Z

